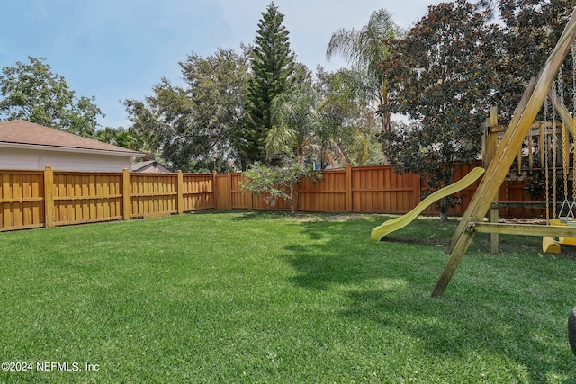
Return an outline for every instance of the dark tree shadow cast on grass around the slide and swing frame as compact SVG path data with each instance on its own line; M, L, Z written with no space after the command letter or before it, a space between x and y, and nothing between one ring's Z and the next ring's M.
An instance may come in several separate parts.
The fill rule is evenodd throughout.
M509 361L506 366L524 367L529 382L548 381L548 373L562 374L568 378L565 382L576 381L567 339L566 347L558 351L565 329L555 327L565 326L569 308L564 318L561 302L531 306L529 288L503 290L493 279L484 279L483 272L474 271L455 279L446 298L431 298L448 258L444 247L457 222L420 222L386 242L371 241L370 230L381 223L374 217L301 223L311 243L285 247L285 260L297 272L293 284L308 290L344 290L347 305L338 316L410 335L432 355L458 358L489 353ZM507 241L505 249L518 247L520 240ZM486 245L480 237L474 255L467 257L484 257L478 250ZM499 265L491 266L490 261L486 260L486 268L497 275ZM518 274L539 274L536 264L522 263L519 268ZM378 281L402 283L379 287Z

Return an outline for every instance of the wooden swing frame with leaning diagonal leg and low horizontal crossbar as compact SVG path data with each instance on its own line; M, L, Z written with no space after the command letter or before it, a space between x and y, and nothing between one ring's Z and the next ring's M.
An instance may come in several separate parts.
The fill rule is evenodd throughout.
M472 244L473 237L477 232L491 234L512 234L540 237L576 237L576 228L569 226L541 226L541 225L517 225L505 223L484 223L482 219L491 209L491 204L495 201L500 185L504 182L509 169L512 166L518 151L521 150L529 130L536 120L536 115L545 103L545 98L550 95L553 109L562 118L565 127L569 127L572 122L572 135L574 133L573 120L570 112L566 113L565 106L560 105L560 100L554 94L554 78L560 70L564 58L572 49L572 43L576 39L576 8L572 10L570 20L564 28L563 34L558 40L556 47L547 58L545 66L541 70L536 80L531 81L518 103L518 107L509 123L508 128L501 138L500 145L496 148L493 158L490 159L482 182L474 193L473 199L464 212L450 245L446 249L450 253L450 258L440 276L436 286L432 290L433 297L441 297L446 291L446 287L452 280L458 265L462 261L468 247ZM551 92L551 89L553 92ZM553 125L554 126L554 125ZM554 127L555 128L555 127ZM554 138L555 135L553 135ZM554 165L553 165L554 166ZM545 168L546 172L547 167ZM553 168L555 172L555 168ZM555 176L555 174L553 175ZM555 185L555 183L554 183ZM546 189L548 191L548 189ZM546 193L549 198L549 193ZM555 201L555 196L554 196ZM572 205L573 208L573 205ZM546 208L548 210L548 208Z

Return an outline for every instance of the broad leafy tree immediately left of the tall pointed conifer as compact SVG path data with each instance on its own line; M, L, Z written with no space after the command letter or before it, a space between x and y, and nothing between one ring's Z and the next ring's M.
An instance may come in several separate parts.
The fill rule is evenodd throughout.
M131 129L148 137L173 167L187 172L220 172L236 159L230 132L243 121L247 93L247 58L218 49L180 63L184 86L163 78L146 103L126 101Z

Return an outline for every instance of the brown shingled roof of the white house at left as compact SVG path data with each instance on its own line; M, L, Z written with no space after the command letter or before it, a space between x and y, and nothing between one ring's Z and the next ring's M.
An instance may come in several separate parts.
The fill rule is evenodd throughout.
M61 149L64 151L103 152L107 154L137 156L131 149L112 146L91 138L83 138L62 130L44 127L30 121L13 120L0 121L0 147L42 147L46 149Z

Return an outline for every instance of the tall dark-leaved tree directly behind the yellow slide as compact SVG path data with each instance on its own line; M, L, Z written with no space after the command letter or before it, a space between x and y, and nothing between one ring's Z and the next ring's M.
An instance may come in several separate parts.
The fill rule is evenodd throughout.
M495 86L498 28L464 0L428 8L402 40L387 41L384 62L394 80L392 107L418 122L384 137L397 172L414 172L432 190L453 182L454 165L480 153L483 123ZM439 201L441 217L455 204Z

